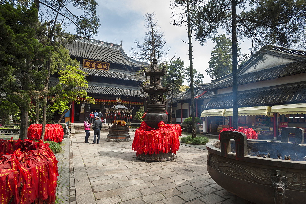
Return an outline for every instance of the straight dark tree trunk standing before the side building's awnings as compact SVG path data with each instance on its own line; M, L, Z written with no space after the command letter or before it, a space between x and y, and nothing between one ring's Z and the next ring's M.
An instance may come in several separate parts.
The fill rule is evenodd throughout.
M236 1L232 0L233 128L238 129L238 74Z

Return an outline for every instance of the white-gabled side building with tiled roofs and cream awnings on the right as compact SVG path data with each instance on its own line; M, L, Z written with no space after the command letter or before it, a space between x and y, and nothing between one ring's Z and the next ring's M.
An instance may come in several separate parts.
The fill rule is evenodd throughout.
M232 127L232 74L198 84L211 97L203 101L203 132ZM205 94L204 94L205 96ZM306 51L264 46L238 69L238 125L259 139L279 139L283 127L306 130Z

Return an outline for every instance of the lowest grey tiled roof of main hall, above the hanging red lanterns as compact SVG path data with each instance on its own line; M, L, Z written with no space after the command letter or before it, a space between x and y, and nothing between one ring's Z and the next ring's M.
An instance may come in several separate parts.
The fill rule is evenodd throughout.
M58 79L50 78L49 86L55 86L58 83ZM123 85L110 85L106 83L88 83L86 88L88 93L92 94L107 94L114 96L135 96L135 97L148 97L147 93L144 95L139 91L139 87L135 86L123 86Z

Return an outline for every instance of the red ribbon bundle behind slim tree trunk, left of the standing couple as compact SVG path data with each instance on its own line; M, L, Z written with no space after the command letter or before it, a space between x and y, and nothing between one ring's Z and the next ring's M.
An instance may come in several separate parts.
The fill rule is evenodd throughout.
M42 124L32 124L28 128L28 138L39 140L41 137ZM64 138L64 129L60 124L46 124L44 141L62 142Z

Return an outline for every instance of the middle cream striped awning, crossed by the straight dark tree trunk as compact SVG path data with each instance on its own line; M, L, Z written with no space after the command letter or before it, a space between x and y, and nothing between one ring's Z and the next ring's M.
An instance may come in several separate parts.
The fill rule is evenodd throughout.
M238 108L238 115L247 116L247 115L270 115L271 106L253 106L253 107L243 107ZM226 109L224 116L232 116L233 109Z

